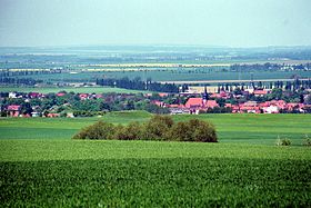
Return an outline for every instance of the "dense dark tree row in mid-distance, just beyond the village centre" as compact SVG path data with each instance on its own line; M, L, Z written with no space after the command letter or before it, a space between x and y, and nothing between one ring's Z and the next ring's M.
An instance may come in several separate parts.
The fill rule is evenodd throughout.
M133 90L150 90L150 91L159 91L159 92L179 92L178 86L173 83L159 83L156 81L151 81L148 79L147 81L142 81L140 78L134 78L130 80L128 77L121 79L97 79L97 85L99 86L109 86L124 89L133 89Z

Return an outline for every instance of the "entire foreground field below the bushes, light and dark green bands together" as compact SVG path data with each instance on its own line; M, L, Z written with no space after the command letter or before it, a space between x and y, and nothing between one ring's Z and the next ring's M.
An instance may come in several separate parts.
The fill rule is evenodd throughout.
M303 147L1 140L3 207L308 207Z

